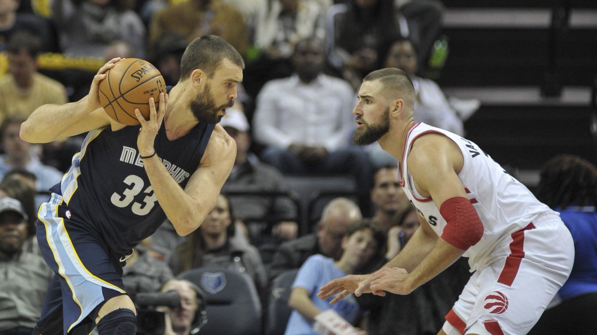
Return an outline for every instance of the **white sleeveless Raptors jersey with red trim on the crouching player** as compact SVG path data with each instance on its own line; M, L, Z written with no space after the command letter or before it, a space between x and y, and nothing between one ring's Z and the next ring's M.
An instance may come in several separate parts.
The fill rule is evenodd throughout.
M484 228L481 240L464 253L465 257L469 257L469 265L473 271L482 266L485 256L490 255L502 238L527 227L542 213L552 211L538 201L521 182L507 174L475 143L443 129L416 123L407 135L404 154L398 165L398 181L411 204L429 222L438 236L444 231L446 221L439 214L432 198L425 198L417 193L407 165L408 153L413 142L419 136L432 132L452 139L464 156L464 165L458 178Z

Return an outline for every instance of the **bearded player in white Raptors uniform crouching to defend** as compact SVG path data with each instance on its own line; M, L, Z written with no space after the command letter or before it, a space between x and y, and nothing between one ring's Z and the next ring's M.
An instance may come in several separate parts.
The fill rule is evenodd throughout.
M472 277L438 334L526 334L567 280L574 247L556 212L475 143L414 123L414 88L398 69L363 79L355 144L378 141L421 222L401 253L369 275L321 287L331 303L355 293L408 294L461 256Z

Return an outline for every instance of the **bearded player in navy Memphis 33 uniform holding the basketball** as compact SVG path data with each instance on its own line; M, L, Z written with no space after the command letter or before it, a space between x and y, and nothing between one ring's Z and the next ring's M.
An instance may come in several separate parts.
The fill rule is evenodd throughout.
M180 235L198 228L216 204L236 155L217 124L232 107L244 61L223 39L191 42L180 81L149 100L149 120L124 126L101 108L99 83L75 103L39 107L21 126L28 142L88 132L81 151L38 213L37 236L56 272L35 334L136 333L136 311L122 284L122 266L139 241L166 218Z

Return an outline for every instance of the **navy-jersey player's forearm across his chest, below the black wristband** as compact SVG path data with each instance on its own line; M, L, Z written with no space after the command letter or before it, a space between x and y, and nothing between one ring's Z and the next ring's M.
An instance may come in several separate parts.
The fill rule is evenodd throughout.
M198 201L190 197L174 181L157 155L143 159L143 165L152 184L153 193L176 232L184 236L199 227L216 205L217 197L210 197L211 201L210 198Z

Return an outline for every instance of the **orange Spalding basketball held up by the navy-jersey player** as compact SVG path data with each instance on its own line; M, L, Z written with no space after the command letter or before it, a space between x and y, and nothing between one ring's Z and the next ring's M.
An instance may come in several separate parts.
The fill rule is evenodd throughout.
M164 78L148 61L125 58L107 70L100 82L100 103L106 113L123 125L139 125L135 108L149 120L149 98L157 110L159 94L166 92Z

